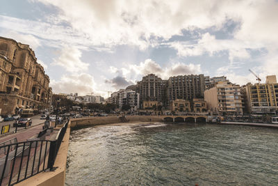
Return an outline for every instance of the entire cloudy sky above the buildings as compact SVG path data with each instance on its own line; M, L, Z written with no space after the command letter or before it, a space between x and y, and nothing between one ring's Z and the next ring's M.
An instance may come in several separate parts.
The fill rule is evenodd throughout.
M102 95L154 73L278 75L276 0L1 0L0 36L30 45L54 93Z

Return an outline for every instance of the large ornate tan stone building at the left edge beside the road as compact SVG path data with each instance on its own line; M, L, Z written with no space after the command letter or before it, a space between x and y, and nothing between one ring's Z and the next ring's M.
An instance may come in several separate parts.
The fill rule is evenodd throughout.
M43 109L51 103L49 77L28 46L0 37L0 110L15 114L20 108Z

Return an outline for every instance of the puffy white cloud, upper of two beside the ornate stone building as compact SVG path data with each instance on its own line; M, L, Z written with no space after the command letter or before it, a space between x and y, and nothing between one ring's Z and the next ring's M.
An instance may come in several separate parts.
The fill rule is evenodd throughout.
M60 65L68 72L84 72L88 70L89 64L81 61L81 54L76 47L64 47L51 65Z

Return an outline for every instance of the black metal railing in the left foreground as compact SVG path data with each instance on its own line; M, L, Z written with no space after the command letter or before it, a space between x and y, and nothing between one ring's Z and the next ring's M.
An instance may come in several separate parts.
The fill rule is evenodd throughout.
M67 124L60 128L54 141L34 140L0 146L0 185L15 185L47 169L53 171Z

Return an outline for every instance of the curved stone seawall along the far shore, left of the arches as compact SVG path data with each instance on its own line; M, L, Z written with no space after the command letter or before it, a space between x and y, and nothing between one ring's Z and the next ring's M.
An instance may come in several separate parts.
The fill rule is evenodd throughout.
M136 122L162 122L161 116L125 116L126 120L123 121L119 116L106 116L106 117L85 117L71 119L71 127L89 127L92 125L106 125L113 123L136 123Z

